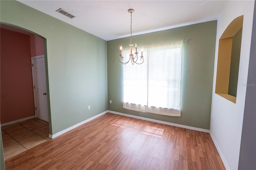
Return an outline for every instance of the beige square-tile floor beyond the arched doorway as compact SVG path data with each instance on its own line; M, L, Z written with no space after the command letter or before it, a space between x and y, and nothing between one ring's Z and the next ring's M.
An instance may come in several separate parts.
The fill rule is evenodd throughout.
M49 123L37 118L1 128L5 160L50 139Z

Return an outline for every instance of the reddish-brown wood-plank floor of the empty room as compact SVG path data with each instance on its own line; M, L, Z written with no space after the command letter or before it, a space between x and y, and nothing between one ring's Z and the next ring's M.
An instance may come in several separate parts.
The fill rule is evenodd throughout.
M6 170L224 170L210 134L106 113L5 162Z

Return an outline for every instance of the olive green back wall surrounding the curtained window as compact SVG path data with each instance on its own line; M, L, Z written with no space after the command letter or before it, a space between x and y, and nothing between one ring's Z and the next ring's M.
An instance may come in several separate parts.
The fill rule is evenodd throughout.
M210 129L216 27L217 21L212 21L132 37L138 46L189 39L183 43L181 117L122 108L122 64L118 61L118 48L120 45L128 48L130 38L108 41L108 100L112 100L112 104L108 102L108 110Z

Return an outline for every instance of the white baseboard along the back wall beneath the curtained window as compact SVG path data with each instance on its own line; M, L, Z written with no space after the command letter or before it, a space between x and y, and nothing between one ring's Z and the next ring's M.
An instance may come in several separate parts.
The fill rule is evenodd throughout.
M164 125L170 125L170 126L174 126L174 127L187 128L187 129L190 129L190 130L196 130L196 131L200 131L200 132L210 133L210 130L203 129L203 128L196 128L196 127L190 127L190 126L186 126L186 125L179 125L179 124L176 124L176 123L158 121L158 120L155 120L155 119L149 119L149 118L145 118L145 117L128 115L128 114L125 114L125 113L119 113L119 112L115 112L115 111L108 111L108 113L113 113L113 114L116 114L116 115L122 115L122 116L126 116L126 117L132 117L132 118L135 118L135 119L142 119L142 120L145 120L145 121L150 121L150 122L155 122L155 123L161 123L161 124L164 124Z

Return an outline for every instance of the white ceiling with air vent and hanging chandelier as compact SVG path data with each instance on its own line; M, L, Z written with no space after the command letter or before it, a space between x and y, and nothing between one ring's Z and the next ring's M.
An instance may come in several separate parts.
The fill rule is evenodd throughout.
M226 0L18 0L106 41L217 20ZM62 8L75 16L58 12Z

